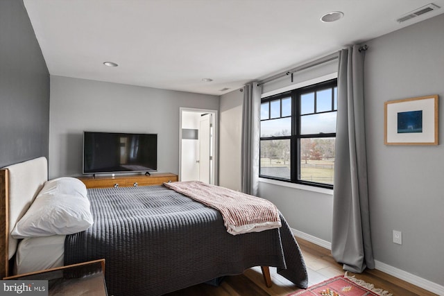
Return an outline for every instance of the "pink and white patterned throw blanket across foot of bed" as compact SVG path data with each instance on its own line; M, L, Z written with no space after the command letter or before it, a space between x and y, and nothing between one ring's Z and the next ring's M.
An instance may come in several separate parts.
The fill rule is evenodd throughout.
M278 208L263 198L199 181L164 185L220 211L227 232L232 235L281 227Z

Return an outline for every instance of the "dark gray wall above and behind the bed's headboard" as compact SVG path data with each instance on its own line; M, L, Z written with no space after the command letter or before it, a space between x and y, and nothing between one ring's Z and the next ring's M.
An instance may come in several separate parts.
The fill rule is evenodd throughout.
M22 1L0 1L0 167L48 157L49 72Z

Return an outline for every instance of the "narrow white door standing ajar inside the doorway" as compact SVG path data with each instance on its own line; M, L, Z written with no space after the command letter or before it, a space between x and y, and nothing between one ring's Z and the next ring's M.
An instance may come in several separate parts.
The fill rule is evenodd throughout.
M199 125L199 181L212 183L212 114L200 116Z

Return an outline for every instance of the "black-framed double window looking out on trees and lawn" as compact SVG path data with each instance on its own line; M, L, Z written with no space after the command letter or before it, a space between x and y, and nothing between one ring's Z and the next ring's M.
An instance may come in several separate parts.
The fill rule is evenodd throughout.
M337 81L262 98L259 176L333 188Z

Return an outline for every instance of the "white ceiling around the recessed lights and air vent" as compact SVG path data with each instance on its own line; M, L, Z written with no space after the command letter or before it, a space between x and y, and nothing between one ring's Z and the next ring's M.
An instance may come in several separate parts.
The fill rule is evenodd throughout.
M396 21L431 1L441 8L402 24ZM24 4L51 75L214 95L444 12L444 0ZM345 16L334 23L319 20L333 10ZM106 67L105 61L119 67ZM221 92L223 88L229 89Z

